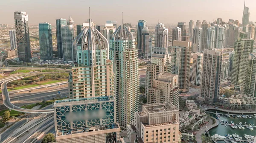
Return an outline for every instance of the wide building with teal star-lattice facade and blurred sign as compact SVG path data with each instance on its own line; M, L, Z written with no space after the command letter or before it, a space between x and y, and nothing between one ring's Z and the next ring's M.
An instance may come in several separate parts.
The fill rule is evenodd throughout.
M54 102L55 143L121 143L113 96Z

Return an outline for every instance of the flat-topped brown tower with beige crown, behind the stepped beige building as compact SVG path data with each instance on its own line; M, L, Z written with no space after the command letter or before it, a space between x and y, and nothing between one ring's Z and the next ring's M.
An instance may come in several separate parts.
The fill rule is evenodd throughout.
M172 73L179 75L180 91L189 91L190 54L192 42L173 41L171 47Z

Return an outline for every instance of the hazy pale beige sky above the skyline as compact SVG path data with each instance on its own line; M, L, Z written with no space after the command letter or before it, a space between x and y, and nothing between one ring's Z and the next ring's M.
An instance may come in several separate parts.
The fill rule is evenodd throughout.
M242 21L244 0L0 0L0 24L14 25L14 11L26 11L29 25L49 22L56 25L58 18L72 17L74 24L91 19L98 25L116 20L137 25L146 20L155 25L176 24L189 20L214 21L222 18ZM246 0L250 21L256 22L256 0Z

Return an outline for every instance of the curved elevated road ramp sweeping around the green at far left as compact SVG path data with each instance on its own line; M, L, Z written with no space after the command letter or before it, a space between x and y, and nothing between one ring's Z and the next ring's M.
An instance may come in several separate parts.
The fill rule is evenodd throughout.
M34 110L34 109L24 109L15 106L14 104L11 103L10 97L9 97L9 92L7 90L7 84L11 81L17 80L17 79L22 79L22 76L15 76L13 78L7 78L5 80L1 80L1 88L2 88L2 95L3 95L3 104L12 110L18 111L18 112L24 112L24 113L53 113L53 109L45 109L45 110Z

